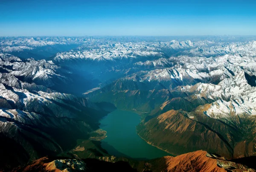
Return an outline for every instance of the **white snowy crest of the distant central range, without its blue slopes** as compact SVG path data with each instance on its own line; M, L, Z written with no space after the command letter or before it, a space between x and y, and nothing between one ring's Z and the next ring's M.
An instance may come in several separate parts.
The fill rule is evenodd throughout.
M191 49L198 46L208 46L214 42L198 41L176 41L169 42L108 42L107 44L97 45L96 48L81 47L85 51L70 51L59 53L55 56L55 61L71 59L90 59L97 61L114 61L120 59L148 58L153 56L154 59L174 54L179 50Z

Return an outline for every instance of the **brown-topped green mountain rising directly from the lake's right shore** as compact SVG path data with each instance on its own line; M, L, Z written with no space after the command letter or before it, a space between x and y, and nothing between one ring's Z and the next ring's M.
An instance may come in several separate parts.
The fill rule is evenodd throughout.
M213 125L212 128L193 120L193 117L182 112L170 110L150 119L145 124L140 124L137 130L138 134L149 144L175 155L204 149L231 158L232 147L227 143L226 138L214 129L215 126L221 128L223 133L230 133L233 129L216 120L210 120L208 125ZM213 142L215 144L212 144Z

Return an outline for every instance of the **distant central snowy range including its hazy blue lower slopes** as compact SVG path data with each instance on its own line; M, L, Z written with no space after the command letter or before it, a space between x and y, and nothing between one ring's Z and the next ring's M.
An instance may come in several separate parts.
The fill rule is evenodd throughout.
M189 40L144 42L143 38L141 41L123 42L91 39L76 50L56 54L52 61L80 78L89 78L95 83L94 87L102 87L128 74L141 71L141 68L134 68L137 62L169 58L178 51L212 44L209 41Z

